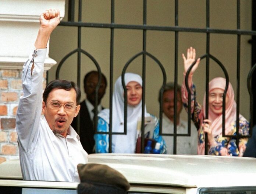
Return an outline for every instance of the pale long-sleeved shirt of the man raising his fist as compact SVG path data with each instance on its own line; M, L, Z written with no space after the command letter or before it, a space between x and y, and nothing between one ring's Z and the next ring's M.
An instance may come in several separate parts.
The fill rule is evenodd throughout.
M16 117L19 159L24 180L79 182L77 164L88 163L79 136L70 126L67 137L54 134L42 111L42 81L47 49L34 52L23 66L24 95L19 99Z

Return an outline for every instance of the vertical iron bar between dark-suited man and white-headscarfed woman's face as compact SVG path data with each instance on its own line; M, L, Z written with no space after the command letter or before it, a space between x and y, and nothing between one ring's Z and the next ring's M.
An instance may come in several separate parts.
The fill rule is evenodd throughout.
M111 23L115 22L115 1L111 0ZM113 111L113 58L114 58L114 28L110 32L110 88L109 88L109 153L112 153L112 111Z

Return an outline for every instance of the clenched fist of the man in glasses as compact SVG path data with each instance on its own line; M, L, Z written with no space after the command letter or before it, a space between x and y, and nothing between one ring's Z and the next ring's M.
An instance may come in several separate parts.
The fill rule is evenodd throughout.
M43 29L54 30L60 23L60 11L58 9L49 9L40 15L40 26Z

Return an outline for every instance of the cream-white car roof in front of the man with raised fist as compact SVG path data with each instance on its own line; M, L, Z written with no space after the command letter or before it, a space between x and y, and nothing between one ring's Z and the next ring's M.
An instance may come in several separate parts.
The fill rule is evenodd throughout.
M183 188L256 186L256 158L90 154L88 161L109 165L121 172L132 185ZM0 164L0 179L22 179L19 160Z

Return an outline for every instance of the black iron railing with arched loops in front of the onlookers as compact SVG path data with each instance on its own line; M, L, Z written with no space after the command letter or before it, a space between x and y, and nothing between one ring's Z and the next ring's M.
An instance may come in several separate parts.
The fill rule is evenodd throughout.
M236 30L226 30L226 29L213 29L210 28L210 0L206 0L206 27L205 28L188 28L188 27L179 27L178 26L178 21L179 21L179 14L178 14L178 0L175 0L175 26L154 26L154 25L147 25L147 0L143 0L143 25L124 25L124 24L116 24L114 21L114 16L115 16L115 1L111 0L111 23L89 23L89 22L82 22L81 20L81 16L82 16L82 0L79 0L79 4L78 4L78 21L75 22L74 18L75 18L75 0L69 0L69 8L68 8L68 21L62 21L60 23L60 26L72 26L72 27L77 27L78 28L78 48L75 49L74 51L71 51L70 53L68 53L60 62L60 64L58 65L57 71L56 71L56 78L59 77L59 71L61 68L61 65L64 63L64 61L70 57L72 54L74 53L78 53L77 56L77 60L78 60L78 64L77 64L77 68L78 68L78 72L77 72L77 84L78 86L80 86L80 70L81 70L81 54L83 53L84 55L88 56L93 63L95 64L95 66L97 67L97 70L99 72L101 72L100 70L100 65L97 63L96 59L90 55L88 52L84 51L83 49L81 49L81 28L82 27L89 27L89 28L107 28L111 30L111 34L110 34L110 100L109 100L109 105L110 105L110 130L109 132L105 133L105 132L97 132L100 134L109 134L109 152L111 153L111 142L112 142L112 135L113 134L120 134L120 133L113 133L112 132L112 95L113 95L113 50L114 50L114 31L115 29L131 29L131 30L142 30L143 31L143 49L141 52L137 53L135 56L131 57L131 59L129 59L127 61L127 63L124 63L124 68L122 71L122 85L123 87L124 85L124 73L128 67L128 65L131 63L131 61L133 59L135 59L136 57L142 55L142 79L143 79L143 93L142 93L142 107L145 106L145 88L146 88L146 56L151 57L160 67L162 73L163 73L163 83L162 83L162 87L160 90L160 96L162 97L163 95L163 89L164 86L166 84L166 72L164 70L163 65L160 63L160 61L154 57L152 54L148 53L146 51L146 37L147 37L147 30L155 30L155 31L172 31L175 32L175 61L174 61L174 91L175 91L175 97L174 97L174 110L175 110L175 114L174 114L174 133L173 134L163 134L162 133L162 106L163 106L163 102L160 102L160 134L164 135L164 136L173 136L174 139L174 150L173 153L176 154L176 148L177 148L177 136L190 136L191 135L191 111L188 111L188 133L187 134L177 134L177 85L178 85L178 42L179 42L179 32L193 32L193 33L204 33L206 34L206 54L203 55L201 57L201 59L206 58L206 96L209 95L209 60L213 59L214 61L216 61L216 63L221 67L221 69L223 70L224 74L225 74L225 78L227 80L226 83L226 88L224 91L224 97L226 95L227 92L227 86L228 86L228 81L229 81L229 77L228 77L228 73L225 70L223 64L214 56L212 56L210 54L210 35L211 34L235 34L237 35L237 121L236 124L237 126L239 126L239 104L240 104L240 55L241 55L241 36L242 35L250 35L250 36L255 36L256 35L256 31L252 31L252 30L241 30L240 29L240 0L237 0L237 29ZM192 64L193 65L193 64ZM191 70L191 68L189 68L189 71ZM249 90L249 94L250 94L250 125L252 125L252 115L253 115L253 95L252 95L252 88L250 85L251 82L251 77L252 77L252 73L255 70L255 66L252 68L251 72L248 74L248 90ZM188 72L189 72L188 71ZM101 74L100 75L100 79L99 82L97 84L96 87L96 98L98 96L98 89L99 89L99 85L100 85L100 80L101 80ZM188 83L187 83L187 79L188 79L188 73L186 75L186 87L188 89ZM127 132L127 91L126 91L126 87L124 87L125 90L125 127L124 127L124 133L121 134L126 134ZM190 90L188 89L188 92L190 92ZM190 97L190 96L189 96ZM161 98L160 98L161 99ZM225 99L225 98L224 98ZM190 103L191 103L191 99L189 99L189 106L188 108L190 109ZM206 118L208 117L208 98L206 98ZM97 105L97 100L96 100L96 105ZM223 101L223 110L225 109L225 100ZM96 109L95 109L96 110ZM96 110L97 111L97 110ZM142 123L144 122L144 109L142 108ZM97 112L95 112L95 115L97 115ZM97 116L95 117L95 122L97 121ZM238 143L238 139L241 137L247 137L247 136L241 136L239 134L239 128L237 127L237 135L233 136L233 135L225 135L225 130L224 130L224 122L225 122L225 111L223 111L223 136L224 137L235 137L237 138L237 143ZM79 129L79 116L78 116L78 129ZM250 126L251 127L251 126ZM144 125L142 125L142 134L144 131ZM79 132L78 132L79 133ZM251 130L250 130L250 135L251 135ZM207 135L206 135L207 138ZM142 135L142 145L144 143L144 138ZM206 139L206 143L205 145L207 145L207 139ZM143 147L142 148L142 152L143 152ZM207 150L207 146L206 150ZM205 151L205 153L207 154L207 151Z

